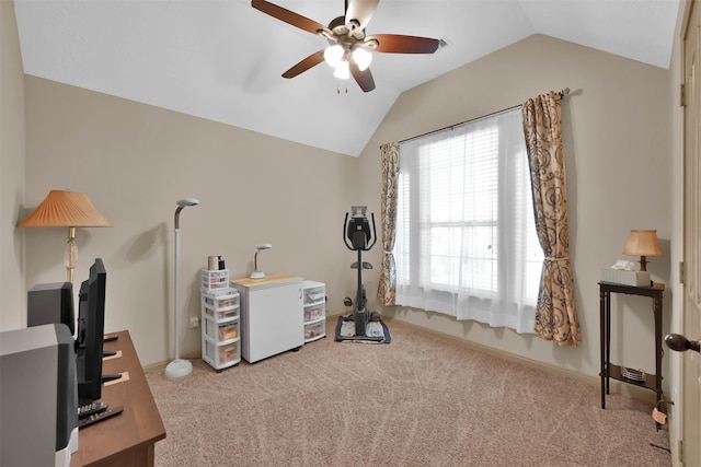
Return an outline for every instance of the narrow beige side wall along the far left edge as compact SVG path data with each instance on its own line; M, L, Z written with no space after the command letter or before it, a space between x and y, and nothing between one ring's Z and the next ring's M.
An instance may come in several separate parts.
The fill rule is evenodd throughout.
M0 330L26 326L23 202L24 71L14 3L0 1Z

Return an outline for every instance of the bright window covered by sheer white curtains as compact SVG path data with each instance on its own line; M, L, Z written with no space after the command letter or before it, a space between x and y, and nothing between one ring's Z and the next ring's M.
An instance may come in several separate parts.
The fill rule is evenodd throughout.
M532 332L542 250L520 108L400 145L397 302Z

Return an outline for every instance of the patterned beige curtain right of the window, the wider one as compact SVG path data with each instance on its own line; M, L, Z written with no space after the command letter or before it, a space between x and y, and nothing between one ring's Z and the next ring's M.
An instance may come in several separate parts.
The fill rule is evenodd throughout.
M536 332L560 346L582 341L574 306L561 95L550 92L521 106L533 194L536 230L545 260L536 307Z

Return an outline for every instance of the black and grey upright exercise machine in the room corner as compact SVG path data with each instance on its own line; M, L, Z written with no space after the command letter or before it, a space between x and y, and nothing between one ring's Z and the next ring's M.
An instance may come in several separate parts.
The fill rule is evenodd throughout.
M358 252L358 260L350 265L350 268L358 270L358 289L355 295L355 303L353 303L353 315L346 318L355 322L355 336L342 339L355 339L363 336L366 340L382 340L383 337L367 336L368 301L363 285L363 270L372 269L372 265L363 260L363 252L368 252L377 242L375 213L370 214L372 218L372 232L370 233L370 222L366 215L367 206L353 206L350 211L353 213L350 221L348 222L348 213L346 212L346 218L343 222L343 242L352 252ZM379 314L372 313L370 319L379 320Z

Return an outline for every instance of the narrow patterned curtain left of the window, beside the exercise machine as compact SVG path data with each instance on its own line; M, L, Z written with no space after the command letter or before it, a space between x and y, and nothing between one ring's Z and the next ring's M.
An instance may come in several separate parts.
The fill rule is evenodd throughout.
M388 142L380 145L382 159L382 268L377 300L380 305L397 304L397 269L394 266L394 238L397 227L397 178L399 177L399 143Z

